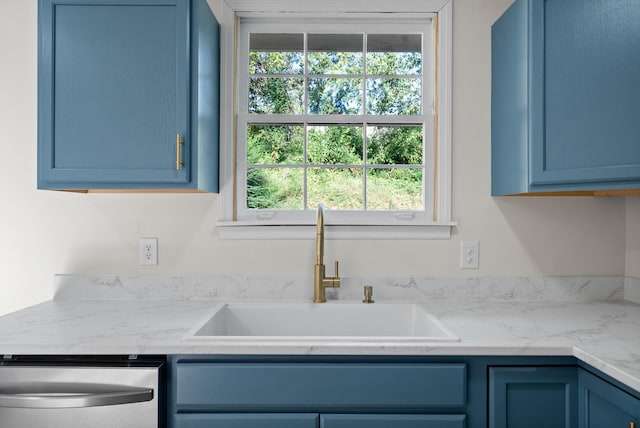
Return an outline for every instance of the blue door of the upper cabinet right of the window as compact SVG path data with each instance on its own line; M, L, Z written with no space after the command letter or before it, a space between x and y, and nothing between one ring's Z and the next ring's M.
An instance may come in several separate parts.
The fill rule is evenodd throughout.
M640 3L530 3L531 184L640 180Z

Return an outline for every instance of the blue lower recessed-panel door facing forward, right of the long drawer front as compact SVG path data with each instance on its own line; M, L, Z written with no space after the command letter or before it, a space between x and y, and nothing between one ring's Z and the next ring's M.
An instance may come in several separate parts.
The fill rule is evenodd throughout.
M490 428L577 428L575 367L491 367Z

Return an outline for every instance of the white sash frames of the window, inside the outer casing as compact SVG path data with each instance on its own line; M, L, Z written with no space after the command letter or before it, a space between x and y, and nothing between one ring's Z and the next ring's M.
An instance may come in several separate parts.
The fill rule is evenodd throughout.
M402 116L402 115L389 115L389 116L376 116L376 115L368 115L364 112L360 114L345 114L345 115L315 115L309 114L308 112L303 112L302 114L296 115L262 115L262 114L250 114L248 113L248 107L246 100L248 99L248 80L245 77L258 77L257 75L251 75L247 68L248 61L245 61L244 58L248 57L248 45L249 40L248 36L251 33L267 33L273 31L274 27L278 30L282 30L285 33L312 33L312 34L336 34L336 33L346 33L345 26L348 29L349 33L361 34L361 33L373 33L378 27L378 20L382 20L383 18L377 17L377 19L353 19L353 18L338 18L332 20L331 22L318 22L317 19L314 18L296 18L295 21L292 19L283 19L283 20L272 20L272 19L247 19L241 23L241 28L238 35L239 40L239 48L238 48L238 57L243 58L242 61L239 61L238 64L238 75L242 76L242 79L238 82L238 129L237 129L237 139L238 141L246 140L246 126L248 124L273 124L275 122L282 124L297 124L304 126L309 123L312 125L360 125L366 126L368 124L376 125L380 124L384 125L420 125L424 124L424 134L426 138L424 138L424 148L423 150L426 152L425 160L422 163L421 170L425 173L425 177L423 178L423 200L424 201L432 201L433 197L433 188L432 186L427 186L425 183L431 183L431 174L429 171L435 168L435 161L433 159L432 154L434 151L434 142L432 136L433 132L433 86L431 85L434 81L433 75L433 61L431 57L423 57L423 73L420 75L421 82L425 82L425 84L421 85L422 88L422 96L421 100L421 114L419 115L411 115L411 116ZM392 22L387 22L388 18L385 19L385 27L384 32L387 31L389 33L401 33L401 32L409 32L414 33L418 31L424 31L425 40L424 44L428 46L432 46L432 34L429 34L433 30L433 14L425 14L424 16L416 17L415 15L407 18L399 18L396 17L392 19ZM243 48L244 46L244 48ZM432 52L432 49L428 50L429 53ZM302 75L291 75L292 78L301 77L304 78L307 76L306 74ZM309 75L310 78L313 75ZM341 76L342 77L342 76ZM349 76L349 78L364 78L364 75L354 74L353 76ZM404 77L404 76L403 76ZM407 76L413 77L413 76ZM363 79L363 82L366 80ZM306 104L305 104L306 105ZM363 108L366 108L363 106ZM308 207L306 210L278 210L278 209L263 209L263 210L253 210L249 208L244 208L243 205L246 203L246 180L241 180L240 177L246 177L247 165L243 161L246 159L246 144L237 144L236 150L238 153L237 156L237 164L236 164L236 177L238 180L237 185L237 218L238 221L256 221L256 220L267 220L269 222L277 222L280 223L282 221L288 223L301 223L301 224L310 224L315 221L315 209L314 207ZM323 166L327 167L328 165ZM284 168L288 168L289 166L283 166ZM368 165L356 165L355 168L364 172L369 168ZM299 168L296 166L296 168ZM304 169L304 168L301 168ZM427 177L427 174L428 177ZM364 180L363 180L364 181ZM363 189L364 190L364 189ZM424 210L411 210L411 211L403 211L403 210L331 210L331 217L333 224L352 224L352 225L392 225L398 224L425 224L428 222L429 218L433 217L433 204L425 203Z

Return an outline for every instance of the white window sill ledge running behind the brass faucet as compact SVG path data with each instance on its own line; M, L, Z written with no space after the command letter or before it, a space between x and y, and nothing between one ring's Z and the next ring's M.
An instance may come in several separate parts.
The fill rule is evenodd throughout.
M403 226L325 225L326 239L450 239L457 223ZM274 225L259 222L218 222L220 239L315 239L315 224Z

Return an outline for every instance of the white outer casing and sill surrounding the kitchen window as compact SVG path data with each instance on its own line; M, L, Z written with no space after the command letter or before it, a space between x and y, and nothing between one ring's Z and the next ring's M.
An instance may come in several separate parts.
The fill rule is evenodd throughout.
M264 4L268 3L268 4ZM221 87L221 148L220 148L220 205L221 217L217 223L220 237L223 239L307 239L313 236L308 222L236 221L236 132L238 100L236 98L237 81L235 75L236 43L240 17L277 17L279 13L292 10L314 12L315 18L344 12L369 12L358 16L372 16L377 12L405 13L426 12L435 15L435 49L438 56L436 64L436 103L435 145L437 172L434 179L434 218L422 225L358 225L331 224L331 211L325 212L329 239L448 239L451 227L456 223L451 219L451 97L452 97L452 0L397 0L396 2L379 0L339 0L306 2L301 0L226 0L223 3L221 19L221 75L223 82L233 85ZM362 4L361 4L362 3ZM390 3L392 3L390 5ZM390 212L396 215L397 212Z

